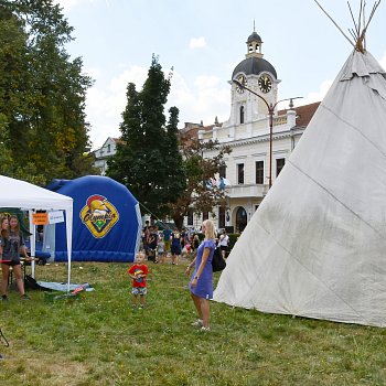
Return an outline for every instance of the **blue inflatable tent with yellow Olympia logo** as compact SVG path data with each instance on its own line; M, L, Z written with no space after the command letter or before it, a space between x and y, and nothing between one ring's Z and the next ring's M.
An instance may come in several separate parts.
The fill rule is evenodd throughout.
M73 261L133 261L141 235L138 201L117 181L100 175L53 180L46 189L73 197ZM55 261L67 260L64 223L46 229ZM47 242L51 236L51 242ZM54 240L53 240L54 238Z

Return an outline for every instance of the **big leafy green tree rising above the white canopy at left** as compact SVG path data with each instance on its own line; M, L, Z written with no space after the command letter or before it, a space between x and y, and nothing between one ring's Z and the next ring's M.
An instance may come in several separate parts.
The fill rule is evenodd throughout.
M45 184L95 172L85 117L92 79L65 45L73 28L52 0L0 0L0 115L10 162L0 172Z

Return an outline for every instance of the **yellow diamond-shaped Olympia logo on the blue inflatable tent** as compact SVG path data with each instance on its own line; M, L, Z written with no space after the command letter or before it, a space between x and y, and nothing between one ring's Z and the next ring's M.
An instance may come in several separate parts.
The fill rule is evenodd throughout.
M116 207L103 195L90 195L82 208L82 222L96 238L105 237L119 219Z

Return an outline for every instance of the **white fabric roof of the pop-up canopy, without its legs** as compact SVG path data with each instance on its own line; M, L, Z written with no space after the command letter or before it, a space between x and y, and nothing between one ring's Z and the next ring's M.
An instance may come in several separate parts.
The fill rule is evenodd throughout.
M25 181L0 175L0 205L34 210L72 210L73 199Z

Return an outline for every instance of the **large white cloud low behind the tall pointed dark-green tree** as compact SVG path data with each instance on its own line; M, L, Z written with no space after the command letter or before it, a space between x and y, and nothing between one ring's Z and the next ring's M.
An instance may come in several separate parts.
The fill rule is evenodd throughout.
M101 146L107 137L119 137L119 125L121 114L126 107L126 87L129 82L136 84L137 89L142 88L147 78L148 68L131 66L104 86L101 72L97 68L88 69L95 76L95 85L87 93L87 121L90 122L89 132L93 149ZM165 74L168 76L168 74ZM190 88L181 74L174 72L171 79L171 92L165 106L165 115L171 106L180 110L180 124L182 128L185 121L204 125L214 124L217 116L218 121L225 121L229 117L230 89L221 86L215 76L197 76ZM94 126L94 122L97 125Z

